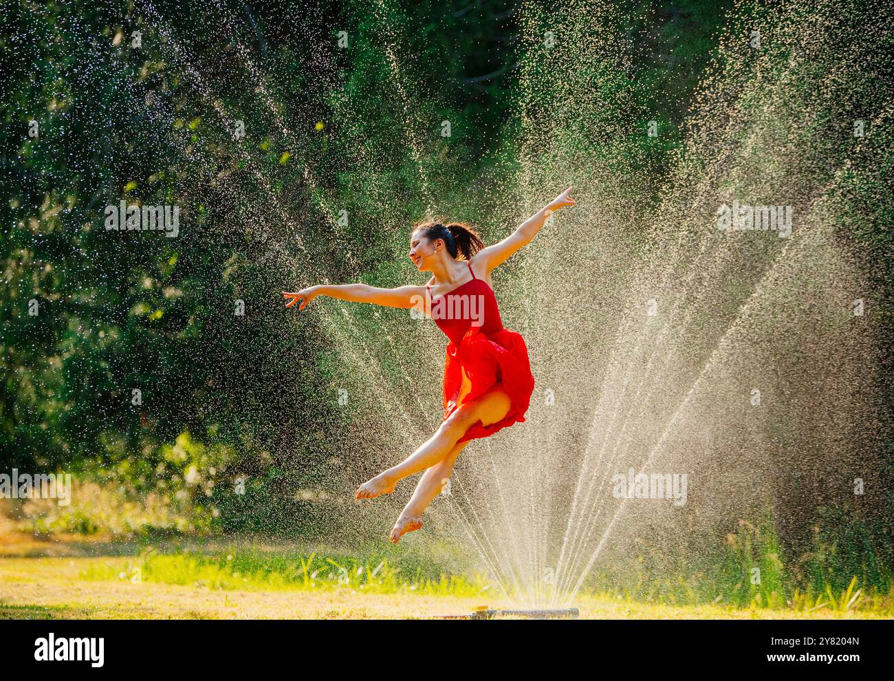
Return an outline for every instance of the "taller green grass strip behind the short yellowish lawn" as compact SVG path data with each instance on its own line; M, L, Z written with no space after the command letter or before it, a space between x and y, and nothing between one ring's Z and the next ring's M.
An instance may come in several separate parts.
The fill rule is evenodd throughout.
M685 576L666 573L654 578L645 572L624 580L596 573L581 596L620 601L628 606L718 606L732 610L785 611L809 616L817 611L836 615L861 612L894 616L894 590L861 587L856 576L841 590L825 584L821 591L789 586L789 576L772 534L763 538L752 525L730 535L727 562L716 574ZM642 565L642 559L640 560ZM756 568L756 572L755 572ZM350 593L417 593L456 598L485 598L498 593L482 574L437 573L431 564L401 559L358 558L330 551L262 551L227 549L212 553L153 549L133 558L90 561L80 572L85 581L178 584L222 591L304 591ZM753 581L752 577L759 576Z

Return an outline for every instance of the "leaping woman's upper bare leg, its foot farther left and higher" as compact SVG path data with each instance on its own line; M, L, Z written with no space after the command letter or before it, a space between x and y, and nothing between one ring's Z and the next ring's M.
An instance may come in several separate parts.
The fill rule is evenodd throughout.
M453 412L446 421L438 426L437 431L425 444L397 466L392 466L376 475L372 480L361 484L355 495L356 498L372 499L379 494L393 492L394 485L403 478L434 466L450 454L457 441L466 434L470 426L475 425L478 421L481 421L483 425L496 423L509 413L510 406L509 395L502 390L502 386L498 383L480 398L467 402Z

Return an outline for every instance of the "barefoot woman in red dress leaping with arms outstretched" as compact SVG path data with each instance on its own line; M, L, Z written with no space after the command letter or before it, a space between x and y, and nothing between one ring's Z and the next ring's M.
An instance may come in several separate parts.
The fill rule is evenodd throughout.
M391 541L422 527L422 513L450 479L453 463L469 441L493 435L525 420L534 377L525 341L504 329L491 272L530 243L547 218L574 206L571 188L521 223L509 237L485 248L468 224L420 223L409 237L409 257L419 272L431 272L426 286L379 289L366 284L311 286L283 291L286 307L299 310L317 296L386 307L417 307L447 335L441 425L401 463L360 485L357 499L389 494L403 478L425 471L391 531Z

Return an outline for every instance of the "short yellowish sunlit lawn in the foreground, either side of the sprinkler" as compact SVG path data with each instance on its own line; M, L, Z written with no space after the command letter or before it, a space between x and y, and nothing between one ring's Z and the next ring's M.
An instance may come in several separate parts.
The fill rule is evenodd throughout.
M500 594L465 581L410 590L387 586L387 580L376 589L333 580L311 585L282 576L265 585L257 576L238 576L244 580L240 585L215 584L206 573L190 584L175 584L196 574L194 557L161 558L162 569L139 576L134 570L139 557L0 558L0 618L434 618L479 605L513 607ZM576 604L582 618L603 619L875 617L859 611L672 607L595 595Z

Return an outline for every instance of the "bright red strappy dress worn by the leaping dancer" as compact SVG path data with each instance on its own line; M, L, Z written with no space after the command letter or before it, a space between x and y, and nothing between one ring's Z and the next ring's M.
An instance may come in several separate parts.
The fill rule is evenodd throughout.
M491 425L477 421L459 442L487 437L507 425L523 422L534 392L524 339L520 333L503 328L493 290L475 276L472 265L467 265L472 279L443 296L432 299L426 286L434 323L450 339L444 358L443 420L496 383L502 383L511 404L501 421Z

